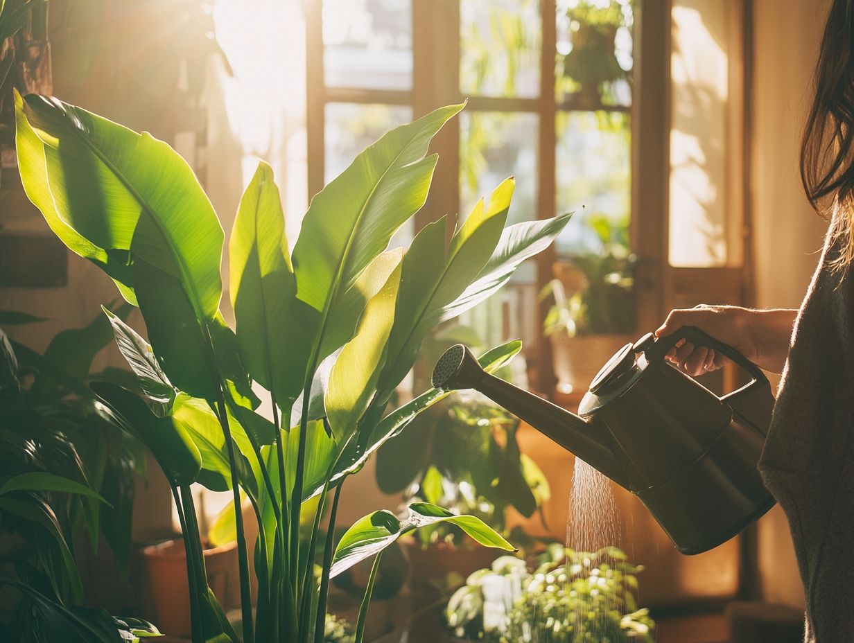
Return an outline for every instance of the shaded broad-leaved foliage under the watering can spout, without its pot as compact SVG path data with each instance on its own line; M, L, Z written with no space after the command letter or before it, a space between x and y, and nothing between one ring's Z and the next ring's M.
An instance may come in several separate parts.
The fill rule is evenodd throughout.
M406 502L424 500L454 513L481 517L514 543L506 511L531 517L548 500L546 476L519 452L518 418L481 395L454 395L412 420L412 427L377 453L377 484ZM423 544L463 545L459 529L436 524L418 531Z

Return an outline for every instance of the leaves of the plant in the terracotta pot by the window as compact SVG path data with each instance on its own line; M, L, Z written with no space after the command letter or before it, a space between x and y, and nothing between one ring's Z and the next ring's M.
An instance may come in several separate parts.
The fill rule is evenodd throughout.
M600 335L635 330L635 264L629 248L628 225L613 224L605 216L588 223L600 241L600 252L580 254L570 261L582 286L571 294L557 278L540 291L554 301L543 322L547 336Z

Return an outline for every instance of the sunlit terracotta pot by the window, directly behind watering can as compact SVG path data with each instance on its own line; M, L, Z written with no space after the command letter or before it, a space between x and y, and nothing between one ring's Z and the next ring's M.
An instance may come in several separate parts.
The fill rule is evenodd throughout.
M558 393L579 395L587 391L596 373L617 350L635 337L629 335L584 335L569 337L555 334L552 342L554 376Z

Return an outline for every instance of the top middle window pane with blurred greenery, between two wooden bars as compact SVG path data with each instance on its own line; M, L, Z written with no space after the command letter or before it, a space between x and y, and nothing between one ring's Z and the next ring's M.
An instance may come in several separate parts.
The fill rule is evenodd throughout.
M459 90L469 96L539 96L539 0L461 0Z

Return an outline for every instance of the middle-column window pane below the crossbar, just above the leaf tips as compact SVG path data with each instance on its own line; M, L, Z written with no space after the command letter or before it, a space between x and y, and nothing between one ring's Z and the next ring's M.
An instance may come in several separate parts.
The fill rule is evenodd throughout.
M479 198L516 177L509 221L536 219L536 154L539 117L510 112L459 116L459 202L465 217Z

